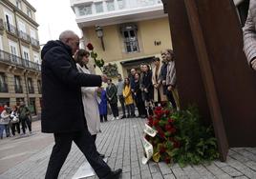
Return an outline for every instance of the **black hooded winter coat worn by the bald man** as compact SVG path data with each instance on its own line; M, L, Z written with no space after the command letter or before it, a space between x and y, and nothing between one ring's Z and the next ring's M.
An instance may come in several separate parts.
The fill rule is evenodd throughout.
M61 41L49 41L42 58L42 131L70 132L86 129L81 87L101 85L99 75L79 73L72 50Z

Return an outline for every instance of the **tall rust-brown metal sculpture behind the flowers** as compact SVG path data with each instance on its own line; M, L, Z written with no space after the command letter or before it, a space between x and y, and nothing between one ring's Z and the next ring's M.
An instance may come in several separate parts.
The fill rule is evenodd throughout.
M232 0L165 0L181 108L197 104L212 123L221 160L229 147L256 146L256 75L246 64ZM211 119L211 120L209 120Z

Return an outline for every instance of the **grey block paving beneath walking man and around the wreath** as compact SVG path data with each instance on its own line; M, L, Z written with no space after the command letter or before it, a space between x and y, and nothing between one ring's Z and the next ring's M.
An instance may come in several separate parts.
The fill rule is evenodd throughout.
M108 157L108 164L112 169L123 169L123 179L256 179L256 148L230 149L225 163L215 161L210 165L187 166L182 169L176 164L170 167L164 163L157 164L153 162L142 165L143 149L141 138L144 122L145 120L143 119L135 118L109 121L101 125L102 133L97 136L97 149ZM0 178L44 178L49 156L53 148L53 141L50 144L11 169L3 172ZM73 145L59 173L59 178L72 178L84 161L85 158L81 151ZM96 177L89 178L93 179Z

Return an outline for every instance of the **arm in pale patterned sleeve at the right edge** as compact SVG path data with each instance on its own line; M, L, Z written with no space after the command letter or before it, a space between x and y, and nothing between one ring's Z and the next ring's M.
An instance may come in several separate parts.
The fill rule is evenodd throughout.
M250 0L244 27L244 51L249 66L256 70L256 0Z

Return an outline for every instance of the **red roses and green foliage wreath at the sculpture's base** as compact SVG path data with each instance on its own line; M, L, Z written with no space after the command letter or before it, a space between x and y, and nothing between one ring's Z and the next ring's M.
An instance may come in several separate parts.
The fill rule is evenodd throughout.
M219 157L213 129L203 126L196 108L173 111L157 107L154 115L148 118L146 128L156 133L153 136L145 130L144 138L144 144L153 148L155 162L174 162L182 167Z

